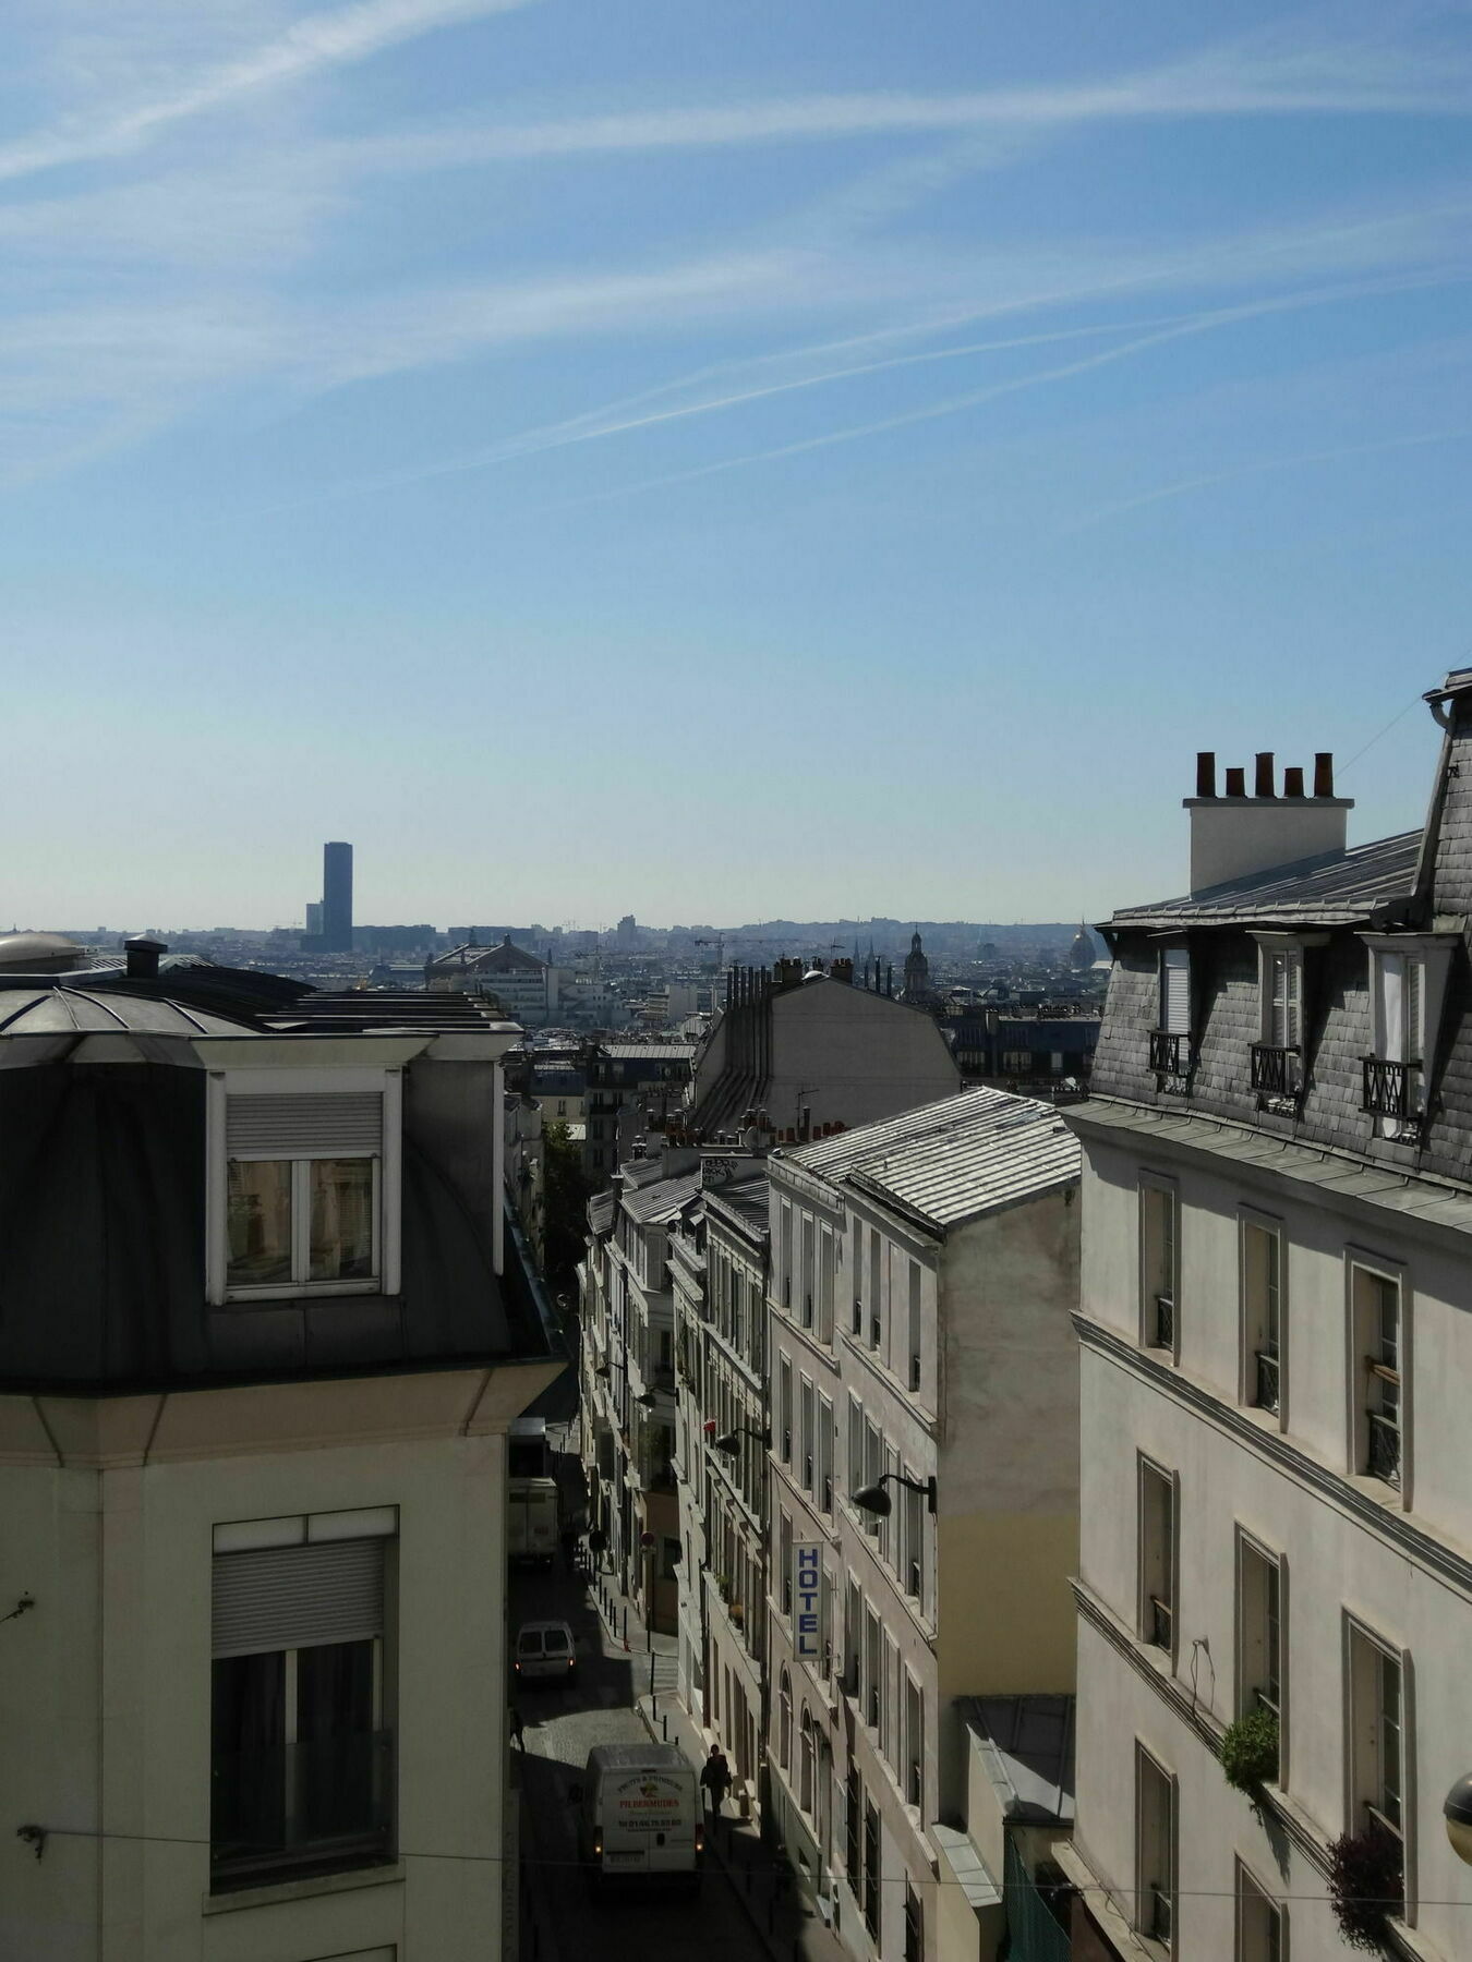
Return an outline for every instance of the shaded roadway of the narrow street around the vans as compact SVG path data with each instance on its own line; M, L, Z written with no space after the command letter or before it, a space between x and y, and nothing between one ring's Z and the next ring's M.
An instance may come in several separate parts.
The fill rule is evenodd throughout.
M697 1897L654 1889L628 1897L589 1897L577 1870L571 1787L583 1778L595 1744L646 1742L634 1699L650 1689L650 1656L624 1654L608 1642L587 1587L559 1562L553 1572L520 1572L510 1581L512 1638L522 1621L563 1619L577 1642L575 1683L524 1683L516 1689L526 1752L522 1760L522 1862L532 1911L522 1921L522 1956L530 1958L534 1925L552 1936L538 1962L650 1962L650 1956L703 1956L705 1962L765 1962L746 1903L722 1866L707 1856ZM665 1689L673 1658L656 1656Z

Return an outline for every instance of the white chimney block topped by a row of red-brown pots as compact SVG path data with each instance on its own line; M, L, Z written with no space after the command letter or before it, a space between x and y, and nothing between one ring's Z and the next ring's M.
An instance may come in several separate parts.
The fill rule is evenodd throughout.
M1276 865L1342 852L1352 797L1335 797L1335 759L1323 749L1313 759L1313 797L1303 795L1303 771L1284 771L1284 795L1274 789L1272 749L1256 759L1254 795L1246 771L1227 771L1227 795L1217 797L1217 757L1199 749L1191 812L1191 895Z

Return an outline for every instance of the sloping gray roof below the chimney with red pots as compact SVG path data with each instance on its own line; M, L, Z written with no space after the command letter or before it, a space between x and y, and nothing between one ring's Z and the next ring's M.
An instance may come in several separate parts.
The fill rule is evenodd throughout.
M1148 906L1121 906L1111 926L1164 928L1213 926L1246 920L1282 920L1313 926L1352 926L1376 906L1411 897L1421 832L1399 832L1352 852L1274 865L1250 879L1231 879L1183 899L1162 899Z

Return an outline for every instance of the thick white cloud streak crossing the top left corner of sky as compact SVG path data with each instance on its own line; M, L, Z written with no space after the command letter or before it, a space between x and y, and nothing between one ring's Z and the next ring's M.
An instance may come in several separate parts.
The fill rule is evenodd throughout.
M181 78L167 94L118 108L112 116L67 122L39 135L0 145L0 179L33 177L71 163L92 163L137 149L175 124L298 82L326 69L367 61L400 41L485 14L506 14L532 0L357 0L332 14L308 14L285 33L202 75Z

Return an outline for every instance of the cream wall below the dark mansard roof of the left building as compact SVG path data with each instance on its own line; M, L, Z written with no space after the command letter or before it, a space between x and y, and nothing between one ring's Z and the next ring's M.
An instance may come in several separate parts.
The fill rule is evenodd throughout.
M24 1411L0 1415L14 1446ZM0 1787L6 1819L35 1821L51 1836L37 1862L12 1833L0 1834L0 1954L493 1956L506 1715L504 1436L173 1458L155 1440L147 1466L86 1470L6 1456L0 1591L27 1587L35 1609L4 1628ZM212 1526L379 1505L398 1507L385 1630L398 1864L210 1899ZM267 1899L271 1891L290 1897Z

